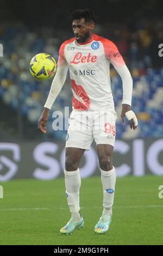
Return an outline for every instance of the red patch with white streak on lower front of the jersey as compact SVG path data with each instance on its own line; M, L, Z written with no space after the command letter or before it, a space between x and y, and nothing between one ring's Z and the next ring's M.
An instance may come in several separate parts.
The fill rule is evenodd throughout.
M90 108L91 101L84 88L74 80L71 80L71 89L72 89L72 105L74 109L78 110L87 110Z

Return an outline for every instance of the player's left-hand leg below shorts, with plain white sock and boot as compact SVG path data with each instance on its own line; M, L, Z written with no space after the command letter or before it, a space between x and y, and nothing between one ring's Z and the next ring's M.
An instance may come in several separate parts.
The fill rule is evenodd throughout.
M84 151L85 149L66 148L65 186L71 219L61 228L61 234L71 234L74 229L82 228L84 225L79 205L79 191L81 185L79 162L82 159Z

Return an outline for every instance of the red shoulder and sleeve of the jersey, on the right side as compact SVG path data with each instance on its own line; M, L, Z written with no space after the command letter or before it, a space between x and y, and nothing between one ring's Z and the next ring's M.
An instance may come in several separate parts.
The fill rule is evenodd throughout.
M125 62L114 42L110 41L109 39L102 38L99 35L96 35L94 40L102 42L104 46L105 57L106 59L110 60L112 65L114 65L116 68L121 68L121 66L125 65Z

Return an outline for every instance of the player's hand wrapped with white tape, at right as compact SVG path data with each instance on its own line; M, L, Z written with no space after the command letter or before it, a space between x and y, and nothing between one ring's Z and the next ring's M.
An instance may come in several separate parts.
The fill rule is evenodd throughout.
M130 129L136 129L138 122L135 113L131 110L131 107L127 104L122 104L122 112L121 112L121 118L122 122L125 125L126 120L125 117L129 120L130 123Z

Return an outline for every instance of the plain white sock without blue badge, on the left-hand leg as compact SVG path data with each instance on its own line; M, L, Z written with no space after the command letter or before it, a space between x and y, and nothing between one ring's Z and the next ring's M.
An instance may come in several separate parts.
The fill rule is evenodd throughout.
M72 172L65 170L66 196L72 218L80 219L79 190L81 185L79 168Z

